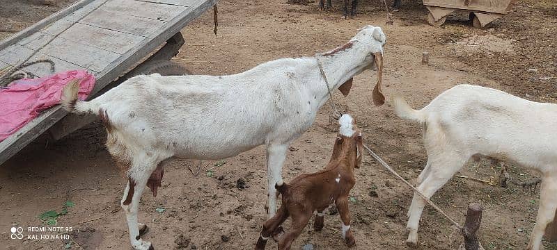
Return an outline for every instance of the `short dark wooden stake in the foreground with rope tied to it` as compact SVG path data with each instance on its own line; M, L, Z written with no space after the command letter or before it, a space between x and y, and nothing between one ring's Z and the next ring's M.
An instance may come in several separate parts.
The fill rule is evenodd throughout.
M478 230L482 224L482 210L483 207L480 203L471 203L468 206L466 213L466 222L462 228L462 235L464 235L464 249L466 250L483 250L482 244L478 242ZM462 248L462 245L460 246Z

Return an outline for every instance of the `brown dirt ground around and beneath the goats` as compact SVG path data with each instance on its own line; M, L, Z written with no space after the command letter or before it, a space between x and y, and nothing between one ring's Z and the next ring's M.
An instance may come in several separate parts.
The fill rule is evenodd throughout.
M6 8L0 8L0 28L19 30L69 2L38 7L1 0ZM552 0L518 1L514 12L485 30L472 28L467 13L451 15L441 28L430 26L426 8L416 0L402 1L393 25L385 24L381 1L361 1L359 16L348 20L340 19L341 2L333 5L334 10L322 12L317 3L221 1L219 35L212 33L212 11L205 13L182 31L186 44L175 61L193 74L234 74L276 58L334 49L358 28L372 24L382 26L388 38L388 97L401 94L421 108L451 86L471 83L533 101L557 102L557 3ZM6 38L9 33L0 35ZM430 65L421 65L423 51L430 53ZM343 98L336 92L336 100L356 117L366 143L414 181L426 162L421 128L398 119L389 103L372 106L374 81L375 72L364 72L354 78L351 94ZM324 106L314 126L292 144L283 167L287 182L327 163L336 135L328 114ZM104 140L104 128L95 123L58 142L43 136L0 166L0 249L130 249L119 205L125 179L104 149ZM189 170L195 172L196 165L195 160L175 160L165 169L157 197L143 194L139 219L150 226L143 238L156 249L253 248L265 219L265 148L204 161L198 176ZM207 172L209 168L213 169ZM458 175L492 180L498 171L484 160L469 163ZM511 166L510 176L526 181L538 174ZM354 249L407 249L409 188L365 156L351 195ZM464 222L469 203L482 203L479 238L485 249L525 249L538 195L539 189L499 188L455 177L432 201L458 222ZM44 225L40 215L61 211L67 201L74 206L66 205L68 213L56 220L58 226L73 228L70 240L9 239L11 226ZM430 207L420 226L419 249L457 249L462 243L450 223ZM322 232L307 226L293 249L306 244L313 249L347 249L339 231L338 216L327 216ZM267 249L274 248L276 243L269 241Z

